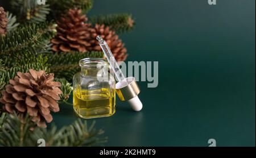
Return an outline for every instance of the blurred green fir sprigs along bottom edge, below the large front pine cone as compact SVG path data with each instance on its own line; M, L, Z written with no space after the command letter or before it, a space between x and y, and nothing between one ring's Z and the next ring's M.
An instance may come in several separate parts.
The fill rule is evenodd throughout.
M88 127L86 120L81 119L60 130L55 125L49 130L37 127L28 115L22 122L15 113L6 114L2 119L5 121L0 128L0 145L5 147L37 146L39 139L44 139L46 146L92 146L102 145L107 140L101 138L104 131L94 128L95 122Z

